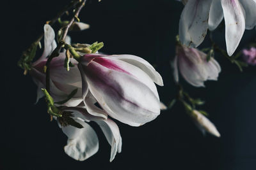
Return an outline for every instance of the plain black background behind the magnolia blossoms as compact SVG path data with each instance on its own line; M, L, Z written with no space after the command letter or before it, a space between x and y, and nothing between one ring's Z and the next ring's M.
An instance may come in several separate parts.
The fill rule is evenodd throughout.
M205 83L206 88L182 81L191 96L206 101L201 109L210 113L221 138L203 136L178 103L142 127L116 121L123 146L111 163L111 148L96 124L91 125L99 136L99 152L83 162L68 157L63 151L67 137L49 121L44 100L33 104L36 85L17 67L22 51L43 31L45 21L68 2L1 3L0 169L256 169L255 67L240 73L221 55L216 55L222 68L218 81ZM170 60L182 8L174 0L88 0L79 18L90 29L70 35L73 42L103 41L102 52L130 53L156 64L164 80L159 96L168 103L176 90ZM238 49L255 34L255 29L246 31ZM225 48L224 29L215 31L214 39ZM206 38L199 48L207 42Z

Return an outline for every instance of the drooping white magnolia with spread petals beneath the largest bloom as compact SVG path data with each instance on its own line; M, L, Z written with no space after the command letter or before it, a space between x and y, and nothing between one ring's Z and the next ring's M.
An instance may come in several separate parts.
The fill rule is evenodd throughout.
M94 155L99 149L99 140L96 132L87 123L90 121L96 122L106 139L111 145L110 162L115 159L116 152L122 150L122 138L118 126L111 119L102 117L94 117L90 115L85 108L67 107L62 111L72 112L74 120L81 124L83 128L79 129L71 125L62 125L61 119L58 120L62 131L67 135L67 145L64 147L65 153L76 160L85 160Z

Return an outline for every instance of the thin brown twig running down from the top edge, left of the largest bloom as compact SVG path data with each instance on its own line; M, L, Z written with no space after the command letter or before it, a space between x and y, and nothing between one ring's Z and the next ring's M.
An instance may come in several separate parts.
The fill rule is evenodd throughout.
M46 90L48 92L50 92L50 64L51 64L51 60L54 57L58 57L60 55L60 51L63 48L63 45L65 45L65 38L67 36L68 29L74 23L75 19L78 17L78 15L79 15L81 9L83 8L86 0L84 0L84 1L80 0L80 2L81 2L80 4L77 4L78 6L77 6L77 9L76 9L76 13L74 13L74 17L71 18L71 20L68 22L67 25L65 25L64 27L61 28L64 31L63 31L63 35L60 39L60 42L58 43L57 47L54 49L52 54L49 56L49 58L47 59L47 62L45 64L45 66L46 66L45 82L46 82Z

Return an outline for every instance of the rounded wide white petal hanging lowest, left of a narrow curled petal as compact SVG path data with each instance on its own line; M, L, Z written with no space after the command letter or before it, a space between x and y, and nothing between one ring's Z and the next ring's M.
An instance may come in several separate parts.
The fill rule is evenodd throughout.
M62 131L68 136L67 145L64 147L65 153L76 160L86 160L99 150L99 140L95 131L81 120L76 120L83 125L78 129L71 125L62 127Z

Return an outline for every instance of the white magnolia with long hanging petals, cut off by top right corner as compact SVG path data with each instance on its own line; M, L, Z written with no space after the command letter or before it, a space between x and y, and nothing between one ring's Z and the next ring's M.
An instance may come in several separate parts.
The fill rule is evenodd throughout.
M216 29L224 18L227 52L232 55L244 29L255 26L255 9L255 0L188 0L180 16L180 41L186 46L197 47L204 41L207 29Z

